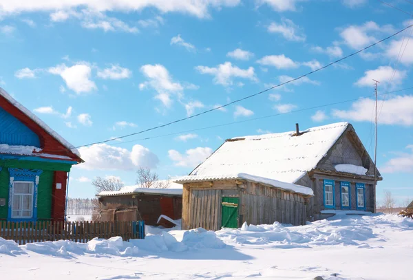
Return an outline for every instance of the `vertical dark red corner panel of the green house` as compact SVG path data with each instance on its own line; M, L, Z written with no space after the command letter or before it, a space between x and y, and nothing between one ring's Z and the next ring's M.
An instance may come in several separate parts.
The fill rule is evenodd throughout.
M56 189L57 183L61 183L61 189ZM54 171L52 186L52 219L54 221L63 221L65 219L66 183L67 172Z

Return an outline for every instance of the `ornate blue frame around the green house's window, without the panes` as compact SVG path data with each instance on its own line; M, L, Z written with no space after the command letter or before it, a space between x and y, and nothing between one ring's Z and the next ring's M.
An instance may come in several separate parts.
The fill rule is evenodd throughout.
M39 179L43 170L40 169L17 169L9 168L10 184L9 184L9 204L8 204L8 220L20 222L20 221L35 221L37 219L37 195L39 192ZM31 218L12 218L12 200L13 200L13 187L15 181L33 182L33 201L32 201L32 217Z

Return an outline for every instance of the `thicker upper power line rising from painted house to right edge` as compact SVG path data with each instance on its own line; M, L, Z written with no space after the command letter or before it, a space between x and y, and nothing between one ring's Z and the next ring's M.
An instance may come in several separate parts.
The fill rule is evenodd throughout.
M387 37L385 37L384 39L381 39L380 41L377 41L376 43L372 43L371 45L368 45L367 47L363 47L361 50L359 50L359 51L357 51L357 52L353 52L352 54L348 54L347 56L344 56L344 57L342 57L342 58L339 58L337 61L333 61L332 63L329 63L329 64L327 64L327 65L325 65L325 66L323 66L323 67L319 67L318 69L315 69L315 70L313 70L313 71L311 71L311 72L308 72L308 73L306 73L306 74L304 74L304 75L301 75L301 76L299 76L299 77L297 77L297 78L293 78L293 79L291 79L291 80L287 80L287 81L284 82L284 83L280 83L280 84L275 85L275 86L273 86L273 87L269 87L268 89L264 89L263 91L259 91L259 92L257 92L256 94L251 94L251 95L249 95L249 96L245 96L244 98L240 98L240 99L234 100L234 101L232 101L232 102L230 102L230 103L226 103L225 105L221 105L221 106L215 107L215 108L213 108L213 109L209 109L209 110L206 110L206 111L202 111L202 112L200 112L200 113L198 113L198 114L195 114L195 115L193 115L193 116L189 116L189 117L186 117L186 118L180 118L180 119L178 119L178 120L173 120L172 122L167 122L167 123L164 124L164 125L158 125L158 126L156 126L156 127L151 127L151 128L149 128L149 129L144 129L144 130L141 130L141 131L138 131L138 132L135 132L135 133L129 133L129 134L126 134L126 135L124 135L124 136L119 136L119 137L111 138L111 139L108 139L108 140L103 140L103 141L98 141L98 142L92 142L92 143L89 143L89 144L84 144L84 145L78 146L78 147L76 147L76 148L88 147L88 146L91 146L92 144L102 144L102 143L105 143L105 142L110 142L110 141L114 141L114 140L119 140L119 139L127 138L127 137L130 137L130 136L138 135L138 134L141 134L141 133L144 133L144 132L147 132L147 131L151 131L151 130L154 130L154 129L159 129L159 128L161 128L161 127L167 127L167 126L173 125L173 124L175 124L175 123L177 123L177 122L182 122L182 121L184 121L184 120L189 120L189 119L191 119L191 118L195 118L195 117L198 117L198 116L207 114L207 113L209 113L209 112L211 112L211 111L215 111L215 110L218 110L218 109L222 109L222 108L224 108L224 107L228 107L229 105L233 105L233 104L235 104L235 103L239 103L239 102L241 102L241 101L243 101L243 100L252 98L252 97L254 97L254 96L258 96L258 95L260 95L260 94L264 94L264 92L266 92L266 91L269 91L269 90L271 90L271 89L275 89L276 87L281 87L282 85L286 85L286 84L288 84L288 83L292 83L292 82L294 82L295 80L299 80L299 79L301 79L301 78L304 78L304 77L306 77L306 76L309 76L310 74L314 74L315 72L319 72L319 71L322 70L322 69L325 69L325 68L327 68L327 67L330 67L331 65L334 65L334 64L336 64L336 63L339 63L339 62L341 62L341 61L343 61L343 60L345 60L345 59L347 59L347 58L350 58L351 56L354 56L354 55L356 55L356 54L359 54L360 52L363 52L363 51L365 51L365 50L368 50L368 49L370 49L370 47L374 47L375 45L378 45L379 43L382 43L383 41L386 41L386 40L388 40L388 39L396 36L397 34L400 34L401 32L407 30L408 28L411 28L412 26L413 26L413 25L407 26L406 28L403 28L403 30L400 30L400 31L398 31L398 32L396 32L396 33L394 33L394 34L392 34L392 35L390 35L390 36L387 36Z

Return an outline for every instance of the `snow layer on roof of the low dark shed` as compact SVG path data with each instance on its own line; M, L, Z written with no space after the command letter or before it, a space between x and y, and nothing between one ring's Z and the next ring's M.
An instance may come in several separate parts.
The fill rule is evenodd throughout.
M165 189L144 188L141 184L124 186L119 191L102 191L98 196L129 195L131 193L153 193L157 195L182 195L182 184L176 184L172 180L158 180L155 184L165 185Z

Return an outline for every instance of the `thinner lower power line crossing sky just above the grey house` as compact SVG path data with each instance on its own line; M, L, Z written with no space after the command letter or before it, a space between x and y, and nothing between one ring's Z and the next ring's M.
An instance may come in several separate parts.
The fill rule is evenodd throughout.
M396 92L405 91L405 90L407 90L407 89L413 89L413 87L407 87L407 88L405 88L405 89L398 89L398 90L395 90L395 91L385 92L385 93L383 93L383 94L377 94L377 95L378 95L378 96L381 96L381 95L385 95L385 94L394 94L394 93L396 93ZM248 119L248 120L239 120L239 121L236 121L236 122L226 122L226 123L220 124L220 125L211 125L211 126L209 126L209 127L200 127L200 128L197 128L197 129L189 129L189 130L186 130L186 131L179 131L179 132L167 133L167 134L162 134L162 135L158 135L158 136L149 136L149 137L145 137L145 138L139 138L139 139L124 141L124 142L121 142L121 143L116 144L115 146L118 146L118 145L120 145L120 144L127 144L127 143L130 143L130 142L136 142L136 141L142 141L142 140L150 140L150 139L154 139L154 138L162 138L162 137L173 136L173 135L178 135L178 134L182 134L182 133L189 133L189 132L194 132L194 131L200 131L200 130L204 130L204 129L212 129L212 128L215 128L215 127L224 127L224 126L226 126L226 125L236 125L236 124L243 123L243 122L251 122L251 121L253 121L253 120L262 120L262 119L264 119L264 118L272 118L272 117L275 117L275 116L292 114L292 113L297 113L297 112L300 112L300 111L308 111L308 110L313 110L313 109L319 109L319 108L322 108L322 107L328 107L328 106L332 106L332 105L339 105L339 104L343 104L343 103L349 103L349 102L352 102L352 101L357 101L357 100L361 100L361 99L364 99L364 98L370 98L370 97L373 97L373 96L375 96L375 94L372 94L372 95L370 95L370 96L362 96L362 97L359 97L359 98L354 98L354 99L349 99L349 100L337 101L337 102L335 102L335 103L328 103L328 104L324 104L324 105L317 105L317 106L313 106L313 107L307 107L307 108L303 108L303 109L297 109L297 110L290 111L290 112L287 112L287 113L271 114L271 115L268 115L268 116L262 116L262 117L258 117L258 118L250 118L250 119Z

